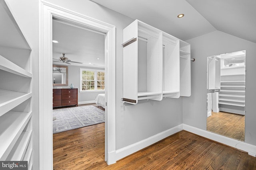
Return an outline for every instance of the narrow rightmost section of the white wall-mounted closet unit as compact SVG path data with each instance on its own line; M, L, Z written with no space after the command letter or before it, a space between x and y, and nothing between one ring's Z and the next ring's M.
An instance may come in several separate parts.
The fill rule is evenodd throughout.
M190 44L180 40L180 96L191 96Z

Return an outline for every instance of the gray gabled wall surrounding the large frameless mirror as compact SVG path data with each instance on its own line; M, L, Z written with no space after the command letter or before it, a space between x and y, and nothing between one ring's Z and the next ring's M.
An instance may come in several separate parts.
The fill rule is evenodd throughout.
M191 63L191 97L183 98L183 123L206 130L207 57L246 50L245 142L256 145L256 43L221 31L214 31L186 42L191 44L191 57L196 61Z

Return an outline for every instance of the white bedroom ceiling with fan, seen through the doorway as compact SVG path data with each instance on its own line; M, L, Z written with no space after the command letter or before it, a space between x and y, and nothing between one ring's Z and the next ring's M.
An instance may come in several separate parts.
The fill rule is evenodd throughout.
M58 59L62 57L61 53L66 53L65 57L71 61L83 63L70 63L74 66L104 68L104 33L92 32L84 27L60 20L52 22L52 39L59 42L52 43L52 58ZM53 62L53 64L69 65L62 62Z

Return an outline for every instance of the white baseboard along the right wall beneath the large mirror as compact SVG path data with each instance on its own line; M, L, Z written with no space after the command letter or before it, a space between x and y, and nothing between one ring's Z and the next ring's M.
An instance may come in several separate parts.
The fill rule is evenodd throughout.
M224 145L228 145L230 147L233 147L233 148L236 148L239 150L243 150L245 152L248 152L249 155L256 157L256 146L254 146L254 145L251 145L251 144L248 144L248 143L245 143L242 141L238 141L236 139L224 137L224 136L218 135L216 133L198 129L196 127L192 127L192 126L186 125L186 124L183 124L183 130L189 131L191 133L194 133L194 134L202 136L202 137L206 137L208 139L211 139L211 140L219 142L219 143L223 143Z

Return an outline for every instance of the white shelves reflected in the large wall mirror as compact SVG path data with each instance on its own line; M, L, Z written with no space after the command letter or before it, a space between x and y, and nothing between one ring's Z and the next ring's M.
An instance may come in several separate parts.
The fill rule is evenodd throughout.
M234 56L235 57L235 56ZM232 56L228 59L233 58ZM244 59L239 66L226 66L226 59L221 59L221 85L219 93L220 111L236 114L245 114L245 51ZM227 63L227 62L226 62Z

